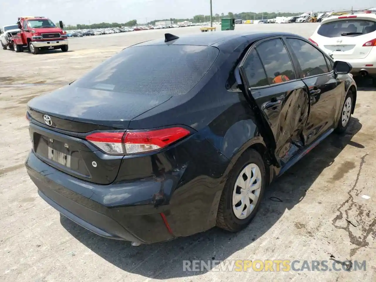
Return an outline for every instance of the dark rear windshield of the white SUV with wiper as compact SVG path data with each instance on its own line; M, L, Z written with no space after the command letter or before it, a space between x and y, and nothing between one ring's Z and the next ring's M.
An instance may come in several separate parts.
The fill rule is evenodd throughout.
M320 26L317 33L326 37L341 36L359 36L374 32L376 30L376 22L368 20L339 20L331 23L324 23Z

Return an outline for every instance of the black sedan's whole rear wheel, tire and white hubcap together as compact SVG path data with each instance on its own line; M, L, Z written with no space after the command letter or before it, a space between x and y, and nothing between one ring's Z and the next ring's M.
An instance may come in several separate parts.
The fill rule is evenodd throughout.
M247 150L232 168L224 186L217 226L232 232L246 227L260 206L265 182L264 160L257 151Z

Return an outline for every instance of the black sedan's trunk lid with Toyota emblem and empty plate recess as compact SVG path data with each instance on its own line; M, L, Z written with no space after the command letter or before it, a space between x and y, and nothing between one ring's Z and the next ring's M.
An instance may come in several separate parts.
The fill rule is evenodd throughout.
M36 155L56 169L92 183L112 183L122 155L106 155L86 141L93 130L125 130L130 120L170 96L124 94L73 85L29 101L29 134Z

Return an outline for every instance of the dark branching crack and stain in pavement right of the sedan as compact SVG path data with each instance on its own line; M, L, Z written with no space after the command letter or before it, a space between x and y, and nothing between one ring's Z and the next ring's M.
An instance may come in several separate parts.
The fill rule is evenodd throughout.
M354 202L354 197L352 196L352 193L355 190L358 192L358 190L356 189L356 185L358 184L359 177L360 177L360 174L361 174L361 171L362 171L362 167L365 164L365 157L367 155L368 155L368 153L361 157L361 161L360 161L360 165L359 165L359 170L358 170L358 174L356 175L355 183L352 186L352 188L347 192L347 194L349 194L349 197L337 209L337 211L339 212L339 214L337 214L337 216L332 220L332 225L336 229L345 230L348 233L348 235L349 235L350 243L352 243L353 245L356 246L355 248L353 248L353 249L350 250L350 257L352 257L353 255L355 255L355 253L359 249L361 249L363 247L367 247L369 245L369 243L366 240L367 240L368 236L371 234L371 232L373 232L373 233L375 232L374 227L376 227L376 218L374 218L373 221L369 224L368 228L364 226L365 225L364 222L362 222L363 224L361 224L359 222L359 229L361 229L361 231L362 231L362 236L361 237L357 237L350 230L349 211L353 208L353 206L356 206L356 203ZM356 194L357 193L355 193L355 195ZM341 212L341 209L345 205L347 205L347 204L349 204L349 206L345 210L345 214L346 214L346 218L345 218L345 220L346 220L346 226L345 227L339 226L339 225L337 225L337 222L339 220L343 219L343 212ZM358 215L361 216L363 214L361 206L359 206L359 209L360 209L360 211L358 212Z

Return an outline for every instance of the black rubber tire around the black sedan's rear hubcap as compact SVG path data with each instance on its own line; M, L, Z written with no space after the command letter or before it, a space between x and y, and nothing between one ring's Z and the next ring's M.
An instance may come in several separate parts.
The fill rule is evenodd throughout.
M256 164L260 169L261 189L259 192L258 201L252 212L250 212L250 214L246 218L239 219L233 211L232 195L234 189L236 189L235 183L238 179L239 174L249 164ZM227 179L227 182L223 188L217 212L218 227L231 232L237 232L245 228L252 221L259 209L260 203L262 201L262 196L264 194L266 184L265 175L265 164L261 155L256 150L246 150L232 168L232 171L229 174L229 178Z

